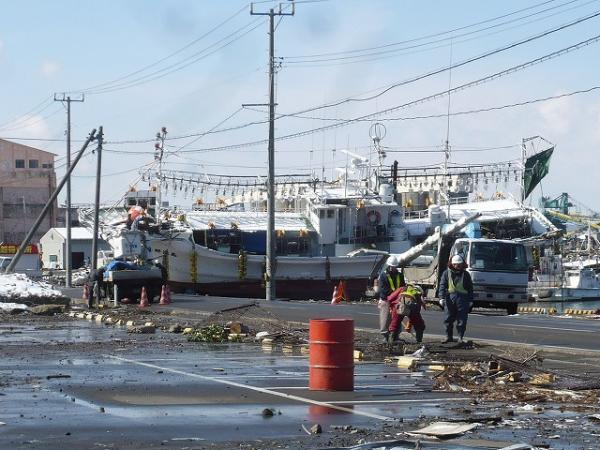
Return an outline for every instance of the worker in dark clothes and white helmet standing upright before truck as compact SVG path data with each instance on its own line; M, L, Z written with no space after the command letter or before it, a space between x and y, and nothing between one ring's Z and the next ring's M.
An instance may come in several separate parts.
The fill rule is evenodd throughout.
M473 280L465 269L467 264L462 255L454 255L448 268L440 278L440 299L444 302L446 318L446 339L443 341L454 342L453 328L456 322L458 342L462 343L467 329L467 317L473 303Z

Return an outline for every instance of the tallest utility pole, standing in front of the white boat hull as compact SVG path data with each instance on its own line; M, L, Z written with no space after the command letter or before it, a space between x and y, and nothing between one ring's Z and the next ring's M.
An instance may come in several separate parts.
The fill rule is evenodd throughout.
M293 16L292 11L284 12L282 4L278 11L273 8L269 12L255 12L254 4L250 4L250 14L253 16L269 16L269 174L267 177L267 261L265 267L267 300L277 298L275 289L276 248L275 248L275 16Z

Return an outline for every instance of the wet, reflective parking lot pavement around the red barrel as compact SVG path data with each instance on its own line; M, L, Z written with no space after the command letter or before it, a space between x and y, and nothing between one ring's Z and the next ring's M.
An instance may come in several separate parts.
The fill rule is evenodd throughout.
M144 335L136 336L135 346L102 345L119 335L128 338L84 321L4 325L0 343L10 344L13 354L1 371L8 386L2 389L0 447L164 448L185 439L300 437L303 424L373 427L468 400L431 392L428 377L383 363L357 364L355 392L311 392L305 355L241 344L165 350ZM87 345L64 351L61 341ZM32 345L46 351L30 353ZM265 408L275 414L264 417Z

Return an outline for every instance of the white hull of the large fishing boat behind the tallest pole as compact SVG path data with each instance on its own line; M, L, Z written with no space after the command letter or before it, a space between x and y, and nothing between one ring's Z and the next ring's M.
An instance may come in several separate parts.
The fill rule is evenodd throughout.
M194 244L189 237L156 239L153 255L163 255L169 284L176 292L216 296L263 298L265 257L224 253ZM276 260L278 298L331 299L340 281L351 300L364 296L369 278L385 256L303 257L279 256Z

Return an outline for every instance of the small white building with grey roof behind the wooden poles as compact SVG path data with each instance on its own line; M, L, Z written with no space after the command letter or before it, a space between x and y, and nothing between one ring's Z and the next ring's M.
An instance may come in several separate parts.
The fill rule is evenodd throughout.
M92 259L92 232L87 228L71 228L71 267L78 269ZM66 228L51 228L40 239L42 263L46 268L65 268ZM110 245L98 240L98 250L110 250Z

